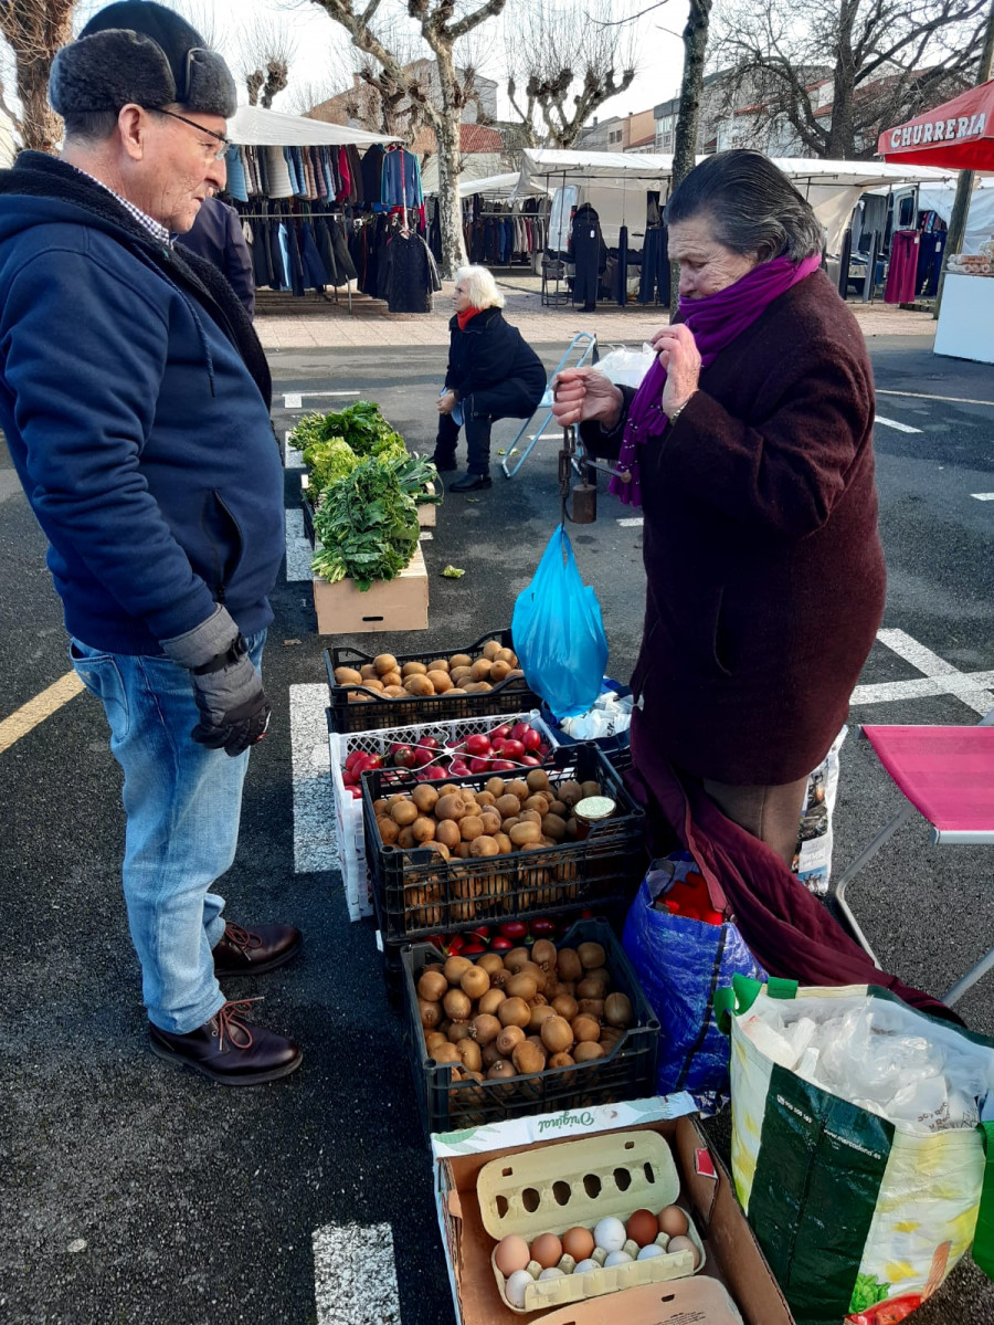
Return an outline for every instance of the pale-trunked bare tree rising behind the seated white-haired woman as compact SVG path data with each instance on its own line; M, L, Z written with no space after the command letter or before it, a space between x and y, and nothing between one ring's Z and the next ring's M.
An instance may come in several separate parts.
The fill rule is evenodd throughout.
M388 45L380 13L383 0L311 0L341 24L359 50L365 52L392 83L416 95L418 78L405 72ZM425 121L438 140L438 204L442 231L442 274L451 277L466 261L459 207L459 123L467 105L465 82L455 72L455 48L487 19L496 17L507 0L466 0L457 16L455 0L406 0L406 12L435 58L438 102L425 102ZM380 21L377 23L377 16Z

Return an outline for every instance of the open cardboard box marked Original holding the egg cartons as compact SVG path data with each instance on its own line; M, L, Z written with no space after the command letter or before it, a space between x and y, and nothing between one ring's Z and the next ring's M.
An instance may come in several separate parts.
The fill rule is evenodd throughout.
M668 1321L712 1325L712 1318L713 1325L728 1325L727 1314L705 1314L707 1304L695 1302L695 1296L699 1297L695 1285L704 1277L724 1284L745 1325L794 1325L736 1200L732 1182L708 1149L694 1110L690 1096L676 1094L434 1136L435 1203L458 1325L529 1321L604 1325L611 1320L623 1320L625 1325L664 1325ZM637 1130L656 1132L672 1149L680 1179L679 1203L691 1214L704 1243L701 1271L688 1280L627 1288L552 1312L523 1314L504 1306L491 1265L494 1239L486 1232L476 1198L482 1169L492 1159L537 1151L576 1137ZM713 1310L717 1312L717 1305Z

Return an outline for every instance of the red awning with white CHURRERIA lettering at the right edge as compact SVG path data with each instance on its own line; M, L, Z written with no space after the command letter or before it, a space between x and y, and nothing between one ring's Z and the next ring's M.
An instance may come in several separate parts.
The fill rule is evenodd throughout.
M994 170L994 78L880 134L878 156L944 170Z

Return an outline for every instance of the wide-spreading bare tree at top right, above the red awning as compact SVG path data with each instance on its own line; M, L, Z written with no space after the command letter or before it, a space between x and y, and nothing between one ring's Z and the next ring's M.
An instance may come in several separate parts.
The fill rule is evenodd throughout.
M740 118L756 146L784 126L811 156L871 156L888 123L971 85L989 4L727 0L715 48L727 105L752 106Z

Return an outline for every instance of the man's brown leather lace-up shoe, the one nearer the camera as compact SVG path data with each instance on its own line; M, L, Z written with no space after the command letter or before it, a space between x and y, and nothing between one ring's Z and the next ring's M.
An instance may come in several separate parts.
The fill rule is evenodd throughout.
M176 1067L193 1068L222 1085L262 1085L295 1072L303 1060L299 1047L245 1015L258 999L229 1000L209 1022L189 1035L173 1035L148 1023L152 1053Z

